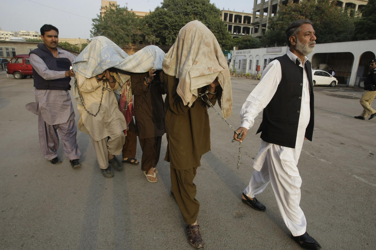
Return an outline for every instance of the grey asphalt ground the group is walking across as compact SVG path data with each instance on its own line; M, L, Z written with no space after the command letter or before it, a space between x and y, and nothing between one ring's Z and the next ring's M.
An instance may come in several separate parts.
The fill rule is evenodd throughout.
M240 125L241 106L257 83L232 78L233 127ZM298 164L307 231L323 249L375 249L376 118L353 118L362 111L359 88L314 87L314 92L314 138L305 141ZM82 132L77 133L82 167L71 168L62 145L64 161L52 165L41 154L37 116L25 109L34 100L32 79L0 75L0 249L193 249L169 192L165 137L157 183L146 180L140 165L124 165L114 178L104 178ZM233 131L213 109L209 116L211 151L195 178L205 248L300 249L270 186L256 196L267 207L264 213L240 199L259 150L261 139L254 134L262 114L243 142L239 169Z

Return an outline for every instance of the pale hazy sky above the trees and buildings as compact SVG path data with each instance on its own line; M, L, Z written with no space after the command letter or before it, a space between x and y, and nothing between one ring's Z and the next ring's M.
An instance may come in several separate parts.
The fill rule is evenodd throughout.
M138 11L154 10L162 0L118 0L120 7ZM252 0L210 0L220 10L250 13ZM100 12L101 0L8 0L2 1L0 28L5 31L38 31L43 24L59 29L61 38L90 39L92 18Z

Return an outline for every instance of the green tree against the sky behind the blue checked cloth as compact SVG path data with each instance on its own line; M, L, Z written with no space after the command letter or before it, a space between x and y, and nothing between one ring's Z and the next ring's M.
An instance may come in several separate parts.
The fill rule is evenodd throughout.
M97 18L92 19L91 37L106 36L120 47L143 41L139 18L135 13L116 4L103 6L102 9L106 11L105 14L98 14Z

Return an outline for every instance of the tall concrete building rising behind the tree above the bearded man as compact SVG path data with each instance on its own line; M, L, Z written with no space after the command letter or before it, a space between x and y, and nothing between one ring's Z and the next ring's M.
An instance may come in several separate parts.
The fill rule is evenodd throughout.
M257 3L260 1L260 3ZM253 0L253 15L252 15L252 36L262 36L268 30L269 18L275 16L281 5L286 5L288 2L293 1L299 3L303 0ZM337 0L336 5L344 10L360 10L368 0ZM266 15L265 15L266 13ZM259 16L257 16L259 15Z

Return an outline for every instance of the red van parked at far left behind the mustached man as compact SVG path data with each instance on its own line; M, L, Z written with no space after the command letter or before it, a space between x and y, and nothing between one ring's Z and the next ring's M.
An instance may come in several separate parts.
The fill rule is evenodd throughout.
M30 64L29 55L15 55L6 65L6 73L13 75L16 79L33 76L33 67Z

